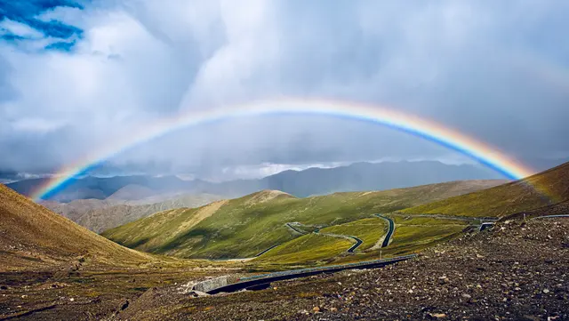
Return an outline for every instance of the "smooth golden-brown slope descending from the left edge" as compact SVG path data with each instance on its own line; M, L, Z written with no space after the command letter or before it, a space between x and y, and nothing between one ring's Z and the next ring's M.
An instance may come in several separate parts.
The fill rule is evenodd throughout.
M49 267L80 255L118 265L150 260L0 184L0 271Z

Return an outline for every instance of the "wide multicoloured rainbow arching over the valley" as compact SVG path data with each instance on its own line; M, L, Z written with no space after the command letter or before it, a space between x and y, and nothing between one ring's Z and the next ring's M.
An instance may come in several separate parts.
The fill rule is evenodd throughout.
M279 99L231 108L215 108L199 112L189 111L144 125L140 127L140 132L134 134L131 132L124 137L118 137L102 148L93 149L80 161L63 168L52 179L40 186L32 198L40 200L52 197L68 186L76 177L88 173L89 170L108 158L168 132L235 118L279 115L333 116L381 124L400 132L430 140L464 156L469 156L469 158L512 180L518 180L534 173L530 168L521 165L515 159L504 155L484 142L474 140L443 124L404 114L394 109L347 101Z

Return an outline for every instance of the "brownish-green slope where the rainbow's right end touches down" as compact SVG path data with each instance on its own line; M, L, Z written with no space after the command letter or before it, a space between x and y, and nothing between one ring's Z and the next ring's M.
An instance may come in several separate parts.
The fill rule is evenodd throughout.
M547 191L549 197L544 197L539 190ZM569 163L522 181L415 206L403 212L501 217L548 205L550 199L554 202L569 199Z

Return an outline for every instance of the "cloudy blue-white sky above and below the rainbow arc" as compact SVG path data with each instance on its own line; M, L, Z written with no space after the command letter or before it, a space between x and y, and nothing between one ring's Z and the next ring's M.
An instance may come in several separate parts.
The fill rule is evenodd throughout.
M568 15L542 0L0 1L0 176L277 97L388 106L543 169L569 157ZM386 159L469 162L373 124L281 116L172 132L99 171L223 180Z

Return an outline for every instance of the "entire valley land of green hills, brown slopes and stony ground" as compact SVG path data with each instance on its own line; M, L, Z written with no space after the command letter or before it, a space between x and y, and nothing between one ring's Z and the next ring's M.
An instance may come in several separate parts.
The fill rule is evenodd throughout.
M0 186L0 319L453 319L505 311L564 319L569 221L533 218L567 213L569 183L554 178L568 168L530 178L551 182L565 197L555 204L518 188L524 181L306 198L262 190L165 209L101 235ZM485 197L494 194L521 203L488 210ZM495 226L480 232L483 222ZM196 290L216 277L228 289L249 280L256 288Z

